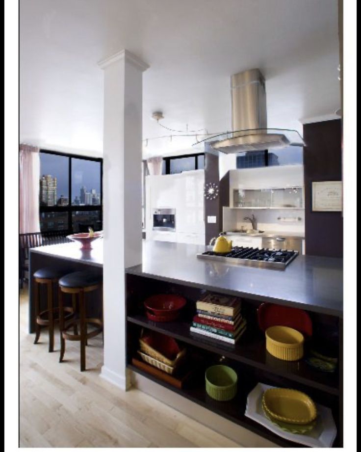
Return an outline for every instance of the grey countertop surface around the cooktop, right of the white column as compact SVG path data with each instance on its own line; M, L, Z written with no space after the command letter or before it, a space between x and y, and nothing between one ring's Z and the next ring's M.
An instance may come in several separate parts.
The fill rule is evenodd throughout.
M342 259L299 255L280 271L197 259L205 250L144 240L143 263L126 273L342 317Z

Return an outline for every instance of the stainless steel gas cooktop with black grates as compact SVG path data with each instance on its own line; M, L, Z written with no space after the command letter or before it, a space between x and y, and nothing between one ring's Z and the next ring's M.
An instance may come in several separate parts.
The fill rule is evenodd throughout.
M298 256L298 251L284 249L251 248L234 246L228 253L206 251L197 254L199 259L226 262L263 268L284 270L285 267Z

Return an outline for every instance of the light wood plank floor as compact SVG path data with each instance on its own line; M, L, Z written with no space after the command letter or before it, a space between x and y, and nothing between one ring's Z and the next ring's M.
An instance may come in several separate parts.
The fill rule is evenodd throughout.
M48 331L37 345L27 333L28 296L20 296L20 447L242 447L136 390L124 392L99 376L101 335L86 347L67 341L59 363L59 339L48 353Z

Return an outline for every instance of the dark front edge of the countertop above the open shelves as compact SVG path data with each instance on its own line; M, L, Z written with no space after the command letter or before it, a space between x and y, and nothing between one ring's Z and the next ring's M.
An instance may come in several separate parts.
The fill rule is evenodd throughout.
M338 310L335 310L332 308L323 308L321 306L309 305L307 303L285 300L282 298L272 298L272 297L265 296L265 295L258 295L257 293L240 292L240 291L236 291L236 290L232 290L232 289L225 289L225 288L218 287L218 286L217 287L207 286L207 285L192 282L192 281L179 280L179 279L170 278L167 276L146 273L142 270L139 270L139 268L137 268L137 267L138 266L132 266L132 267L126 268L125 269L126 274L135 275L135 276L143 276L145 278L157 279L160 281L167 281L170 283L180 284L182 286L195 287L197 289L206 289L206 290L209 290L212 292L225 293L227 295L237 295L240 297L249 298L249 299L257 300L257 301L261 301L261 302L268 302L268 303L281 304L284 306L291 306L291 307L303 309L305 311L315 312L315 313L319 313L319 314L327 314L329 316L335 316L340 319L343 318L343 310L338 311Z

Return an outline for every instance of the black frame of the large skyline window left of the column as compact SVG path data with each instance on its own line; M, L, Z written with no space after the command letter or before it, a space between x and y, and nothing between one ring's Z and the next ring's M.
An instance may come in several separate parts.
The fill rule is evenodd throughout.
M46 212L67 212L68 213L68 229L69 233L73 233L73 212L90 212L98 211L99 219L103 229L103 159L97 157L85 157L78 154L68 154L65 152L52 151L49 149L40 149L41 154L51 154L54 156L67 157L69 159L69 172L68 172L68 199L69 204L67 206L39 206L39 216L41 213ZM72 204L72 159L97 161L100 163L100 204L93 206L77 206ZM39 182L40 184L40 182ZM57 231L57 229L54 229Z

